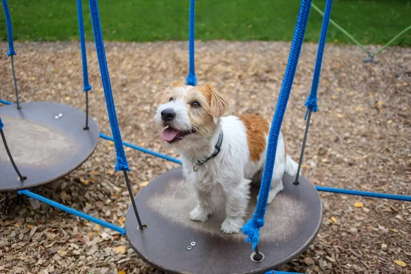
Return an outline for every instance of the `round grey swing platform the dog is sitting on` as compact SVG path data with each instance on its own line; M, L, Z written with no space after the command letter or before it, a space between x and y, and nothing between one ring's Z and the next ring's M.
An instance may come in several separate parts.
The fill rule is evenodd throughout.
M223 197L213 193L214 212L205 222L190 221L197 205L195 192L184 182L182 168L153 180L134 198L142 223L140 231L134 210L129 208L125 229L134 251L165 273L265 273L303 252L319 232L323 208L319 193L304 177L292 185L285 175L284 190L267 206L258 247L264 260L251 260L251 245L245 236L223 234ZM251 218L258 195L252 186L246 221Z

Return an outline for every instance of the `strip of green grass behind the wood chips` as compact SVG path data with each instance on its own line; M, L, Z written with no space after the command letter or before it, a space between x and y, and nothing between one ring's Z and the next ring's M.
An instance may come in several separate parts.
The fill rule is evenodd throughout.
M286 40L292 34L298 0L198 0L196 39ZM325 1L314 0L323 10ZM189 0L100 0L105 40L188 39ZM86 39L92 40L88 1L83 0ZM16 40L78 40L75 0L9 0ZM384 44L411 25L410 0L334 0L332 18L362 44ZM306 41L318 42L322 16L311 10ZM0 40L7 40L0 12ZM328 40L352 44L330 25ZM411 31L393 45L411 47Z

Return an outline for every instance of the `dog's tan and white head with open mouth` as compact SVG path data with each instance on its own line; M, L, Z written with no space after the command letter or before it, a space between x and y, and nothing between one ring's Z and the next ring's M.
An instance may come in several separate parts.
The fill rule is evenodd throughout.
M174 146L212 136L219 118L232 106L231 100L208 84L178 82L159 92L157 103L154 120L162 126L162 139Z

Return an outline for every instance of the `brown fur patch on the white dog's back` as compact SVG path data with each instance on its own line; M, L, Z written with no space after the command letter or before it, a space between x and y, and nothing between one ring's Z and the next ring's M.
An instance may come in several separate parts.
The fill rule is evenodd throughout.
M266 147L266 135L269 134L270 130L269 122L258 115L242 115L239 118L247 129L250 158L253 161L258 161Z

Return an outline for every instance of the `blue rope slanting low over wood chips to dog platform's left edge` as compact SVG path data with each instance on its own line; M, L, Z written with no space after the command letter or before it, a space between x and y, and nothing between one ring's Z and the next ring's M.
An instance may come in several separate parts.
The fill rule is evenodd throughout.
M18 190L18 194L19 195L26 195L28 197L32 197L32 198L34 198L38 201L42 201L43 203L47 203L50 206L53 206L55 208L58 208L60 210L65 211L65 212L69 212L69 214L79 216L82 219L85 219L85 220L90 221L92 223L97 223L97 225L101 225L102 227L110 228L110 229L112 229L116 232L121 233L122 235L125 235L125 229L124 228L121 228L121 227L118 227L116 225L113 225L112 223L108 223L106 221L97 219L93 216L90 216L90 215L84 213L84 212L79 212L78 210L73 210L73 208L69 208L68 206L64 206L61 203L58 203L56 201L52 201L50 199L47 199L46 197L42 197L42 196L40 196L36 193L33 193L29 190Z

